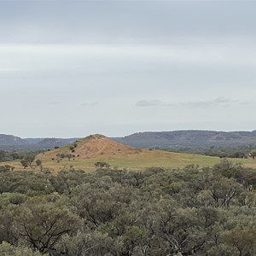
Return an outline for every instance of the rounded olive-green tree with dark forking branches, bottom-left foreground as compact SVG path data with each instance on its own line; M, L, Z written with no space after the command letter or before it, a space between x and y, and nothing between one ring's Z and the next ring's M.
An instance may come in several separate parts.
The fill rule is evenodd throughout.
M18 233L40 253L54 249L61 236L77 230L79 220L56 198L33 197L20 207Z

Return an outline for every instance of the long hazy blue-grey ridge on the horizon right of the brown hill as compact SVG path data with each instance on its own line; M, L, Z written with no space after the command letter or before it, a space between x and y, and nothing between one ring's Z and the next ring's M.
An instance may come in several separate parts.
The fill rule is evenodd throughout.
M137 148L237 147L256 145L256 131L148 131L113 139Z

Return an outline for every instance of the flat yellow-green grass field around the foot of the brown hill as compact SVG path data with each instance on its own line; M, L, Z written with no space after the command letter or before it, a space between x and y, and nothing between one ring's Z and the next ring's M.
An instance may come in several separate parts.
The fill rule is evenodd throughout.
M75 158L74 160L52 160L48 155L39 154L36 159L42 160L44 169L49 169L52 172L59 172L61 170L88 170L94 171L95 163L97 161L107 162L112 168L127 170L143 170L151 166L159 166L167 169L182 168L188 165L199 166L213 166L217 164L220 159L218 157L204 156L199 154L182 154L165 152L161 150L143 150L139 154L130 154L125 156L95 156L88 159ZM233 162L241 163L246 167L256 169L256 160L252 159L230 159ZM20 161L1 163L1 165L8 164L15 166L15 170L23 170ZM27 167L30 169L30 167ZM40 167L33 165L33 169L39 170Z

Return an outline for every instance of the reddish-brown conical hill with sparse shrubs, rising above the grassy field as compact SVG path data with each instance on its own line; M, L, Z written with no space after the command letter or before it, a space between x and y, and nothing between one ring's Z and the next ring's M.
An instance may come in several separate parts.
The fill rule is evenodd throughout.
M125 156L130 154L139 154L141 152L143 152L143 149L131 148L124 144L117 143L101 134L94 134L63 148L51 150L44 155L55 157L56 155L61 154L73 154L75 157L88 159L95 158L97 156Z

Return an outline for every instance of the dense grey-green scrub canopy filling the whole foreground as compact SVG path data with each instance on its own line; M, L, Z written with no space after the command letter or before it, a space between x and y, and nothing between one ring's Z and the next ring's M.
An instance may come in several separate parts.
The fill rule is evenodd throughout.
M255 170L0 172L0 254L253 256ZM20 254L19 254L20 253Z

